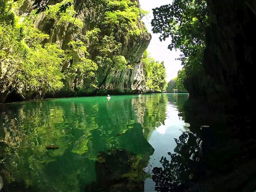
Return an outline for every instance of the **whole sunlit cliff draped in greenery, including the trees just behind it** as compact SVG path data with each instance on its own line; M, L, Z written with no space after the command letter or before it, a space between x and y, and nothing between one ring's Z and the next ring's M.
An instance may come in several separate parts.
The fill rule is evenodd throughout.
M138 68L151 38L138 1L44 2L34 1L33 10L26 1L0 0L0 102L163 91L163 64Z

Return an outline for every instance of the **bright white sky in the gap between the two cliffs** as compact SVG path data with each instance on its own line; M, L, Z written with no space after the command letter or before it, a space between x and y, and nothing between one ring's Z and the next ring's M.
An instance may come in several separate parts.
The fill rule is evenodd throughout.
M179 57L180 51L175 51L174 49L170 51L167 49L170 44L170 38L165 41L159 41L160 34L153 34L151 31L151 20L153 19L153 8L160 7L161 5L166 5L172 2L172 0L139 0L140 7L145 11L150 11L147 16L142 18L145 23L147 30L152 35L151 42L147 48L150 56L156 61L163 61L166 69L166 80L169 82L171 79L177 76L178 70L182 68L181 61L175 60Z

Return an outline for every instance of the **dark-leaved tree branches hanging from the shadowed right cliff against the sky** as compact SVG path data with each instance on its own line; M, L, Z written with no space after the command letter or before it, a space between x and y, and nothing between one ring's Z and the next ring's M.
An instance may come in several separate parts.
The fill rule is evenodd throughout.
M174 0L172 5L162 5L153 10L151 24L154 33L162 33L160 41L168 37L172 42L170 50L180 49L183 53L179 60L184 65L180 75L184 78L203 72L203 52L205 48L205 29L209 23L205 0Z

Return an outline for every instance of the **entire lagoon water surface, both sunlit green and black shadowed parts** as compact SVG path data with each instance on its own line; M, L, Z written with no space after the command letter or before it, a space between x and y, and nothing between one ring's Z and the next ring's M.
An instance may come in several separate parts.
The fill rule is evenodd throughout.
M146 94L0 105L1 191L256 189L250 119L185 107L187 100Z

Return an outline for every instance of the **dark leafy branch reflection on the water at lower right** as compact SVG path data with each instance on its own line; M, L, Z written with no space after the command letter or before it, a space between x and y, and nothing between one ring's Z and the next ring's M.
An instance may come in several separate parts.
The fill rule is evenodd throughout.
M199 171L196 168L202 157L202 140L188 131L182 132L174 140L177 144L175 153L168 152L171 160L162 157L159 161L162 167L154 167L152 170L156 191L182 191Z

